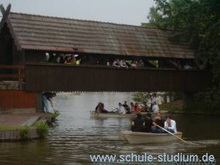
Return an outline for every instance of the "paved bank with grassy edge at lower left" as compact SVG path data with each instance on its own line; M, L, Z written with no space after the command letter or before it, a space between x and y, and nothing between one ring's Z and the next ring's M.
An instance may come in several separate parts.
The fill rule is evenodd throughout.
M0 141L18 141L24 139L37 139L40 134L36 122L50 122L51 114L22 113L0 115Z

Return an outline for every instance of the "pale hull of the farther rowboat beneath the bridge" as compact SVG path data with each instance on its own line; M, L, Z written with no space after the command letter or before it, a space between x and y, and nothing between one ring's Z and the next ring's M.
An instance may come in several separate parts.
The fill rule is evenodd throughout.
M142 115L146 115L147 112L141 112ZM133 118L136 117L136 113L132 114L120 114L120 113L97 113L95 111L90 111L90 116L95 118Z

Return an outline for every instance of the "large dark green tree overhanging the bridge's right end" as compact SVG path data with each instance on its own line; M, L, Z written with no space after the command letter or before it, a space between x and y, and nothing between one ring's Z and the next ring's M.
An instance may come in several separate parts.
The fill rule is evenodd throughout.
M206 103L212 109L219 109L220 1L155 0L155 2L156 7L152 7L149 13L150 26L174 30L172 39L188 43L194 49L198 67L213 72L212 88L195 95L194 101Z

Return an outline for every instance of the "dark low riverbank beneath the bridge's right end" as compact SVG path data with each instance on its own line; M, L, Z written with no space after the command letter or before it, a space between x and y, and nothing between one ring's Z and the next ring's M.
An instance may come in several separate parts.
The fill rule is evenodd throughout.
M199 115L220 115L220 110L208 109L208 105L201 103L190 103L185 105L183 100L176 100L170 103L160 105L161 110L166 110L169 113L180 113L180 114L199 114Z

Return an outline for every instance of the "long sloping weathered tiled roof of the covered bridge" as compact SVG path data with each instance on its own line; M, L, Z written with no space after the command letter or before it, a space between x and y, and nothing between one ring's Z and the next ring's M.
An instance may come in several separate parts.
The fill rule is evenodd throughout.
M193 58L186 44L169 39L170 31L12 12L7 24L20 50Z

